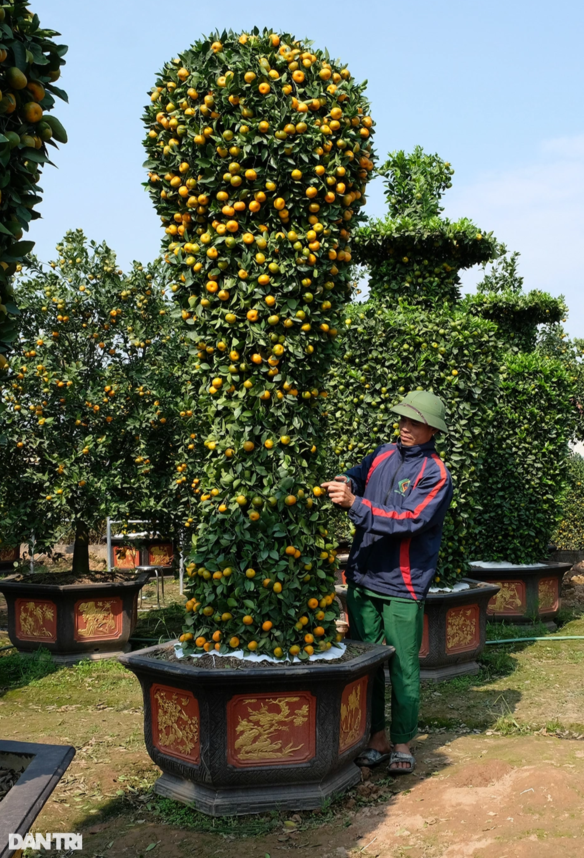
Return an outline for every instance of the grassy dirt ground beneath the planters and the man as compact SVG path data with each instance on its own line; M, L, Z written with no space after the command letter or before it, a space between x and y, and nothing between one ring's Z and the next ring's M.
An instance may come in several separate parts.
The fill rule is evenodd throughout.
M0 734L76 747L34 830L82 831L71 855L87 858L581 858L584 640L554 641L584 636L575 572L556 635L489 645L478 676L423 686L412 775L362 770L356 789L318 812L213 820L162 800L132 674L112 661L56 668L0 653ZM170 631L176 600L167 585L174 607L157 611L150 586L137 634Z

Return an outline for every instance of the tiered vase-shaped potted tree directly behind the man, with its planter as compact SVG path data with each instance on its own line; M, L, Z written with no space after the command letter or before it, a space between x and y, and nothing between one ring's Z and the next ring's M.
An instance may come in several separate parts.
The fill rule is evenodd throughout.
M459 271L494 257L497 245L471 221L441 215L453 168L438 155L420 147L396 152L381 172L389 214L356 238L369 298L347 309L332 368L329 467L343 472L397 438L391 408L406 392L430 390L445 402L448 432L437 436L436 450L451 471L454 496L420 650L423 679L440 680L478 670L487 603L496 595L465 575L471 526L480 515L485 426L500 384L499 340L494 323L465 310Z

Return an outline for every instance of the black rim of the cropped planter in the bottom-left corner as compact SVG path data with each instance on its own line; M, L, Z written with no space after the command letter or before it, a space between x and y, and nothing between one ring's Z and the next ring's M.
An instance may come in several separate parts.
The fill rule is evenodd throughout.
M14 855L9 834L27 834L75 756L75 748L0 740L0 753L34 757L0 804L0 858L9 858Z

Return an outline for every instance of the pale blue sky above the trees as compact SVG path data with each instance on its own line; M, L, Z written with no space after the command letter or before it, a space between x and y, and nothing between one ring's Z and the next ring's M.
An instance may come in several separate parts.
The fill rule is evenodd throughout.
M106 239L123 266L157 256L140 122L155 73L202 34L269 26L327 47L368 80L380 156L419 144L450 160L447 215L471 217L520 251L525 287L564 294L566 328L584 336L584 4L37 0L32 8L70 45L61 77L70 104L56 111L70 142L55 154L58 169L46 168L43 219L31 233L41 258L74 227ZM368 214L383 215L382 187L372 184ZM469 272L465 286L476 280Z

